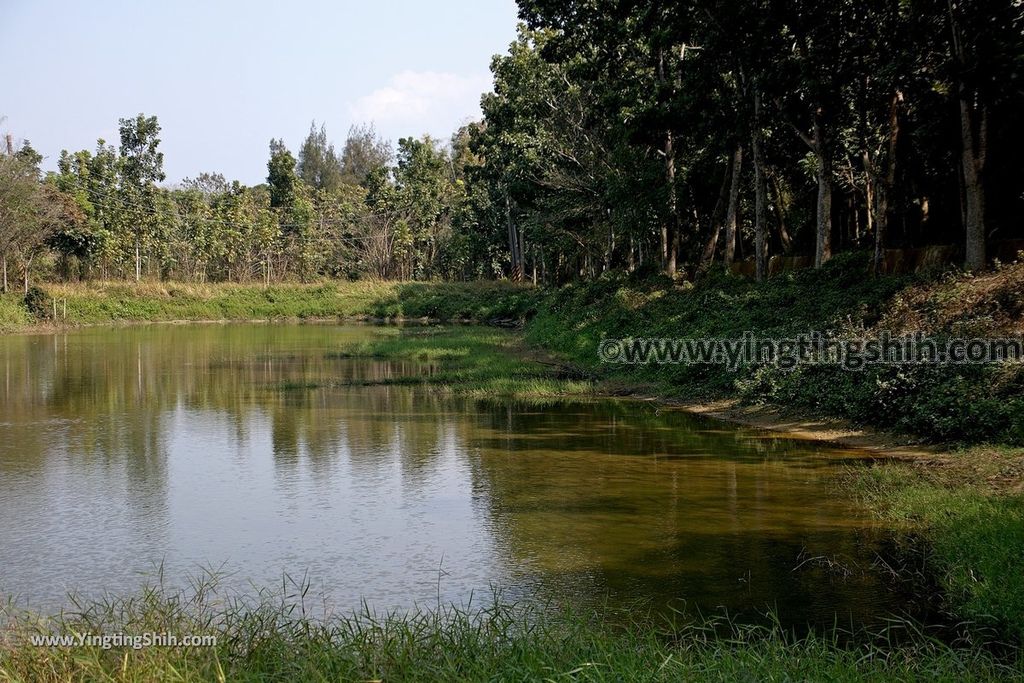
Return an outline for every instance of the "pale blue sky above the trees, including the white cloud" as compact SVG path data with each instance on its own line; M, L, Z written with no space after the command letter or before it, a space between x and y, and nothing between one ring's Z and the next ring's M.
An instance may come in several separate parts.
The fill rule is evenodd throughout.
M446 138L479 115L515 26L513 0L0 0L0 132L52 169L155 114L169 182L257 183L269 139L295 151L312 119L339 147L364 122Z

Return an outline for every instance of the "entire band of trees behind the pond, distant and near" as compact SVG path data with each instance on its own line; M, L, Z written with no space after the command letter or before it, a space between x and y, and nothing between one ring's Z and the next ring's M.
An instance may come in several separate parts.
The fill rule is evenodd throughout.
M1024 238L1021 0L520 0L482 120L451 140L315 122L265 183L168 186L155 116L119 144L0 154L3 288L692 278L775 256Z

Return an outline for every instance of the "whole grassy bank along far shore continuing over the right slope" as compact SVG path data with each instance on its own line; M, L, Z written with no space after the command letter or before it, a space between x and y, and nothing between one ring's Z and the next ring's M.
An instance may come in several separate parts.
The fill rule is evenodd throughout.
M608 274L559 290L511 283L331 282L314 285L188 285L87 283L45 286L59 300L58 321L89 325L136 321L431 318L525 323L526 342L557 354L569 379L605 380L605 386L644 386L688 400L738 396L859 424L918 434L938 442L1024 445L1024 366L894 367L862 372L801 367L785 372L749 366L616 367L598 360L605 338L787 338L812 330L840 336L878 336L920 330L931 336L1024 334L1024 264L980 276L925 273L870 278L865 254L844 254L820 270L783 273L767 283L713 274L695 286L668 280L636 281ZM67 302L67 319L63 318ZM0 298L0 331L51 324L18 298ZM479 390L557 393L544 377L507 381L462 368ZM565 378L562 378L565 379ZM581 387L574 387L578 391Z

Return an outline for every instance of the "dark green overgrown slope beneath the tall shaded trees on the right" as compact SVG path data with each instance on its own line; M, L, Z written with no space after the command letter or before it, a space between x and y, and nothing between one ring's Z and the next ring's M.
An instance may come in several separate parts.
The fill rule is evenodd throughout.
M602 366L603 339L841 338L922 332L935 337L1019 335L1024 265L982 278L936 273L871 278L865 254L758 284L711 275L694 285L605 276L551 293L526 326L529 343L574 365L686 399L739 397L938 442L1024 445L1024 366Z

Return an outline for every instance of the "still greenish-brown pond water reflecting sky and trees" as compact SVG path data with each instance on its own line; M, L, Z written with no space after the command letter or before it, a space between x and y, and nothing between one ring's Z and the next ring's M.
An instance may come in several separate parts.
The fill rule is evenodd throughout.
M0 594L40 609L307 575L336 609L673 603L869 624L902 597L841 492L862 454L655 405L382 383L373 327L152 326L0 339ZM390 331L393 334L393 330ZM309 386L318 384L321 386Z

